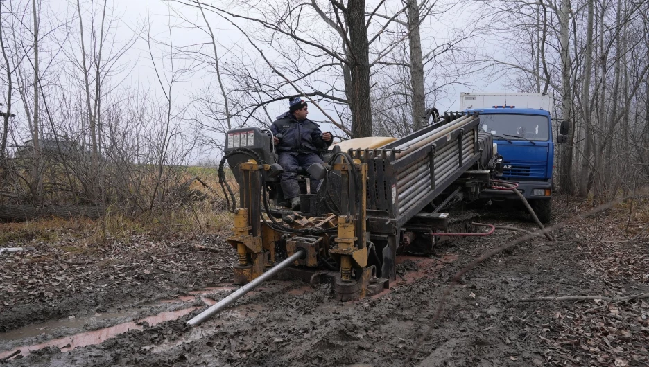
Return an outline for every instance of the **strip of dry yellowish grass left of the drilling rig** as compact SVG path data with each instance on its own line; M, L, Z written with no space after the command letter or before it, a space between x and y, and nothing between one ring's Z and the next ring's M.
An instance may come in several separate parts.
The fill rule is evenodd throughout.
M238 186L227 171L227 179L239 199ZM46 218L21 223L0 224L0 246L8 242L27 244L28 242L54 243L64 238L76 238L78 243L66 251L85 252L87 247L105 241L120 240L130 242L133 235L146 234L155 237L167 235L187 235L198 237L230 231L232 213L227 211L227 201L218 183L216 168L188 168L178 181L182 184L193 177L187 195L175 197L169 203L156 206L153 211L130 217L123 208L108 206L103 218L90 220L76 218Z

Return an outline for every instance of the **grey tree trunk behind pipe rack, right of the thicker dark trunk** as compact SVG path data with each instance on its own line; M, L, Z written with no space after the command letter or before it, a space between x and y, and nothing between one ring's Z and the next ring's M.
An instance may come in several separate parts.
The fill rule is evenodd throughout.
M422 128L422 117L426 110L424 92L424 60L422 58L422 35L419 27L419 5L417 0L408 2L408 40L410 46L410 85L413 88L413 100L410 107L413 111L415 131Z

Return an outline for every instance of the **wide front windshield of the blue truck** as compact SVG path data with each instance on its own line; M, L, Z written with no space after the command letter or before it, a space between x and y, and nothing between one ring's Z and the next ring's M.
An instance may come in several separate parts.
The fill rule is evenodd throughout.
M489 114L480 115L483 132L507 136L510 140L548 141L548 118L546 116Z

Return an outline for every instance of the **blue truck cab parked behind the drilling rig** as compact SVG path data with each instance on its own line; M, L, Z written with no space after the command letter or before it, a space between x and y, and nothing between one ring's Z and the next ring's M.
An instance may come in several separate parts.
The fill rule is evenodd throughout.
M509 106L471 109L480 113L480 128L489 132L503 156L503 181L518 183L518 190L530 203L541 222L551 217L554 143L551 116L543 109ZM493 202L520 201L511 191L485 190Z

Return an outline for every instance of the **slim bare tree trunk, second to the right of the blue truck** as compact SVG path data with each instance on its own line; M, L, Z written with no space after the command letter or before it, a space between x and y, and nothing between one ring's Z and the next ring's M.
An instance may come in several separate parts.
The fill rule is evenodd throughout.
M584 154L582 156L582 165L579 175L579 196L587 197L588 195L588 177L589 177L589 164L591 156L591 106L590 106L590 81L593 69L593 19L594 19L594 4L595 0L588 0L588 24L586 29L586 60L585 60L585 75L584 75L584 88L582 89L582 111L584 113L585 137L584 137Z

